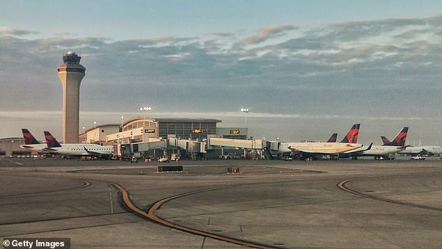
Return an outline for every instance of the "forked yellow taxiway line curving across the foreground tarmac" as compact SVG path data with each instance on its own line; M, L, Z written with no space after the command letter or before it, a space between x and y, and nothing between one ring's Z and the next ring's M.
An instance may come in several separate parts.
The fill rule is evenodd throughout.
M121 191L121 194L123 195L123 202L125 203L125 205L131 209L132 211L134 211L136 214L138 214L139 216L142 216L143 218L147 218L148 220L151 220L155 223L160 223L161 225L165 225L167 227L171 227L171 229L176 229L176 230L181 230L183 232L188 232L190 234L196 234L199 236L204 236L204 237L209 237L212 239L217 239L220 241L226 241L229 243L234 243L237 245L241 245L241 246L247 246L250 248L277 248L277 247L273 247L273 246L266 246L263 244L259 244L259 243L253 243L250 241L243 241L241 239L234 239L234 238L230 238L227 236L222 236L222 235L218 235L218 234L212 234L210 232L204 232L201 230L196 230L196 229L192 229L190 227L183 227L182 225L177 225L174 223L171 223L167 220L164 220L158 216L155 216L155 211L157 209L159 209L162 204L165 204L165 202L169 201L169 200L173 200L176 198L181 198L183 196L186 195L193 195L195 193L201 193L201 192L206 192L206 191L213 191L213 190L218 190L221 188L208 188L208 189L203 189L203 190L199 190L199 191L192 191L192 192L188 192L188 193L182 193L180 195L173 195L167 198L164 198L162 200L159 200L158 202L155 202L151 207L149 207L149 209L147 210L147 212L143 211L142 209L139 209L138 207L135 206L135 204L132 203L132 201L129 198L129 193L127 190L125 190L125 188L123 188L123 186L116 184L116 183L111 183L113 186L115 186L116 188L119 189L119 191ZM226 187L222 187L222 188L226 188Z

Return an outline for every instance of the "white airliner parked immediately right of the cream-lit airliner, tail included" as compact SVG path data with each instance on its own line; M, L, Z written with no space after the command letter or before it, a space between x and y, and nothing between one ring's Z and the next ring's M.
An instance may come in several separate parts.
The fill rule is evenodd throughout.
M374 159L393 159L390 154L395 154L397 152L405 150L404 145L408 130L408 127L404 127L401 131L399 131L393 142L384 143L384 145L372 145L369 150L350 150L348 152L340 154L340 157L351 157L352 159L358 159L358 156L374 156Z

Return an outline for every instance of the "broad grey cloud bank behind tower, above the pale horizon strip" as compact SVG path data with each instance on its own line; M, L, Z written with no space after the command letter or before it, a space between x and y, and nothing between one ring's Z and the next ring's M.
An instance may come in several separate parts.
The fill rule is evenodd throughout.
M377 117L377 110L392 118L441 116L440 19L277 25L249 37L243 31L117 41L0 35L0 111L61 110L56 68L70 50L86 67L81 111L149 105L171 115L204 114L247 105L303 118Z

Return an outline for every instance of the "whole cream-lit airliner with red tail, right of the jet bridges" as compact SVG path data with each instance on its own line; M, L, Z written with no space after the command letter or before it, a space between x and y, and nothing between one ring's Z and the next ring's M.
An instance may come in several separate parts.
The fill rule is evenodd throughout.
M303 158L317 157L319 155L340 154L354 150L363 145L356 143L358 140L360 124L354 124L346 137L340 143L280 143L281 153L293 152L300 154Z

